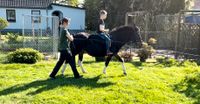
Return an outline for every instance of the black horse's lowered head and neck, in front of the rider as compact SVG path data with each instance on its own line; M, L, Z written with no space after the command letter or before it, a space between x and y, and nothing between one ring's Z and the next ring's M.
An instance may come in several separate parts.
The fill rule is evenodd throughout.
M137 26L121 26L114 29L110 35L112 36L113 41L116 40L124 43L133 42L139 47L142 46L142 38Z

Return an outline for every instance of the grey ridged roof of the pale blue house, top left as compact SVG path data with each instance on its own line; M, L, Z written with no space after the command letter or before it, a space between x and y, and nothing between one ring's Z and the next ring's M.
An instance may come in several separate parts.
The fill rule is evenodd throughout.
M6 8L47 8L53 0L0 0L0 7Z

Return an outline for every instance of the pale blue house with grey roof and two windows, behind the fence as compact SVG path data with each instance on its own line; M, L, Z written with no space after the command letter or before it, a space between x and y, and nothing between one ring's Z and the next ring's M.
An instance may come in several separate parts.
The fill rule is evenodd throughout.
M0 0L0 17L9 22L4 32L21 32L23 15L57 16L59 20L68 17L71 18L71 30L85 29L84 8L54 3L53 0Z

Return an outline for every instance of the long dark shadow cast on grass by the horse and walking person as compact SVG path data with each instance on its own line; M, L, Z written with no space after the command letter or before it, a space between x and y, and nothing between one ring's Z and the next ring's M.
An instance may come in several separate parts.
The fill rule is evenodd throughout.
M73 77L65 77L65 76L58 76L57 79L47 79L47 80L38 80L28 84L23 85L14 85L7 89L0 91L0 96L19 93L22 91L26 91L31 88L37 89L36 91L29 92L27 95L36 95L42 93L44 91L53 90L57 87L65 87L65 86L75 86L78 88L81 87L89 87L89 88L102 88L107 87L110 85L114 85L111 82L103 82L98 83L100 79L100 75L94 78L82 78L82 79L74 79Z

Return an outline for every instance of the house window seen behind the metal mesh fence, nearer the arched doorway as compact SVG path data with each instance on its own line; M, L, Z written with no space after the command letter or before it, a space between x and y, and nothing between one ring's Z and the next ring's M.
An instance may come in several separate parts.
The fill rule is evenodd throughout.
M33 15L32 21L34 23L40 23L41 22L40 10L32 10L31 14Z

